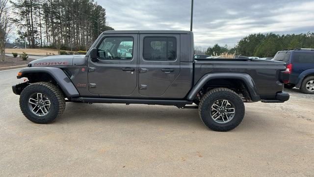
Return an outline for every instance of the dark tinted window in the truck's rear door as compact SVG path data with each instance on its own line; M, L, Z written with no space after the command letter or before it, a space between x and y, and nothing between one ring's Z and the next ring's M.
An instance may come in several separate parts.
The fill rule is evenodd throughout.
M145 37L144 59L175 60L177 57L177 41L175 37Z

